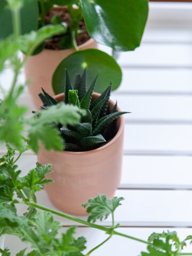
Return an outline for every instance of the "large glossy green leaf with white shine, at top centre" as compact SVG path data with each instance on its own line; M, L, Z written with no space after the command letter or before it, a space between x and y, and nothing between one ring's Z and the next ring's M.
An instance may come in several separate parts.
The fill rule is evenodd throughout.
M138 47L148 15L148 0L79 0L88 33L116 51Z

